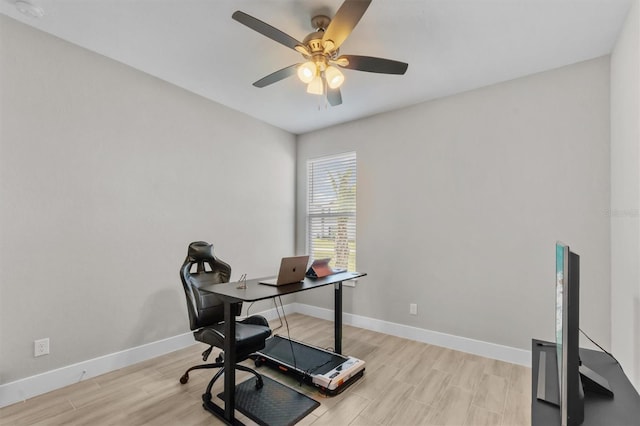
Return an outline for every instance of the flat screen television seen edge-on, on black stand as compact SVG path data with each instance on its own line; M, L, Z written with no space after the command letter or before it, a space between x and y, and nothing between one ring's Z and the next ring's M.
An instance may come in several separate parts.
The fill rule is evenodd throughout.
M558 392L538 393L538 398L560 407L563 426L577 426L584 421L584 392L613 396L606 379L580 362L580 256L569 246L556 243L555 349ZM539 371L548 374L540 359ZM540 370L542 369L542 370ZM555 377L554 377L555 379ZM554 380L551 380L553 382ZM550 380L543 380L548 383ZM538 381L540 385L540 381ZM554 397L557 395L557 399Z

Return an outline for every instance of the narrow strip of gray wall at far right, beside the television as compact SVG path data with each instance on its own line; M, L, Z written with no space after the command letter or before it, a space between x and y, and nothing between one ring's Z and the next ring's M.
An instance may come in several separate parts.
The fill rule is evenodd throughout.
M640 2L611 54L611 344L640 389Z

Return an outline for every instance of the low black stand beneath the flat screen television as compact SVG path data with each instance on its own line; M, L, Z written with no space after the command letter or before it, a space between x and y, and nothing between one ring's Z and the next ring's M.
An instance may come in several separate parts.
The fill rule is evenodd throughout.
M546 346L540 346L538 343ZM555 344L532 339L531 424L532 426L559 425L560 409L536 399L538 390L538 359L542 351L546 353L547 381L557 382L558 380ZM607 354L590 349L580 348L580 359L587 367L607 379L614 393L613 398L591 392L585 393L583 425L639 425L640 396L620 366Z

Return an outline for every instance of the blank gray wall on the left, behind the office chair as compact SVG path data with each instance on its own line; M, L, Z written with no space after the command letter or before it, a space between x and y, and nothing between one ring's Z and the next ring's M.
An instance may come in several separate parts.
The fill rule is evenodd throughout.
M190 241L233 278L293 252L293 135L4 15L0 40L0 384L187 332Z

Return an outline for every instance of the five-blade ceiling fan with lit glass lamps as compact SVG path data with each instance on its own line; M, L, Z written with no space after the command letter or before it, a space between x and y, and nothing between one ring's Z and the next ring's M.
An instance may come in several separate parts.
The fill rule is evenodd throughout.
M265 87L294 74L307 84L307 92L315 95L326 94L331 106L342 103L340 86L344 82L344 74L338 69L346 68L357 71L381 74L404 74L409 64L391 59L371 56L340 55L340 46L364 15L372 0L345 0L333 19L325 15L314 16L311 25L316 31L307 35L302 42L271 25L236 11L231 16L236 21L296 50L304 57L304 62L282 68L253 83L256 87Z

